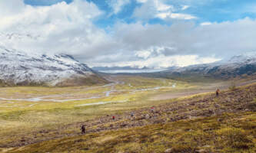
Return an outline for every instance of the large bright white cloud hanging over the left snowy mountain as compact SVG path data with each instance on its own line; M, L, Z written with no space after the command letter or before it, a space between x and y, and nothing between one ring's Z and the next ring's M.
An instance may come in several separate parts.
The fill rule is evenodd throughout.
M22 0L15 2L19 4L13 3L15 10L8 8L12 12L0 20L2 45L27 51L88 54L99 44L111 44L110 39L106 41L105 31L92 23L101 11L91 2L75 0L44 7L25 5ZM0 6L2 15L2 8L8 7L8 3L2 2Z

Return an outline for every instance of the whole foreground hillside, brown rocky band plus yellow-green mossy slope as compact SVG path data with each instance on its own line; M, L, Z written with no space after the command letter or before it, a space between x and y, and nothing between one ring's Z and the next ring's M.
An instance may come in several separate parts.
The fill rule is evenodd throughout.
M140 100L141 103L115 104L111 109L102 106L99 108L112 112L60 129L16 136L15 142L11 139L5 145L12 148L2 151L255 152L255 97L256 84L252 84L221 91L218 97L206 93L158 104ZM125 106L126 111L121 109ZM153 112L151 106L155 106ZM116 116L115 121L111 116ZM80 135L79 127L84 123L87 134Z

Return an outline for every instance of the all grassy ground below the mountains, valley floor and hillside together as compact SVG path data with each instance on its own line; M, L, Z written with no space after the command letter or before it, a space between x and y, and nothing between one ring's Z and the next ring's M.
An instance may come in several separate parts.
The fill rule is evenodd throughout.
M109 79L113 83L107 86L3 89L8 97L0 104L10 107L0 106L0 151L256 151L256 84L227 90L229 83ZM216 87L226 90L216 97L211 93ZM38 90L45 92L39 99ZM161 99L168 94L178 96ZM82 124L86 135L79 131Z

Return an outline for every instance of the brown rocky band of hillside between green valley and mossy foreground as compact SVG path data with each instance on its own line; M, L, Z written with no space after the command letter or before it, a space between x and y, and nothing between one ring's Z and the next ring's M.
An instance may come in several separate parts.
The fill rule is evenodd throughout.
M0 148L22 147L37 142L56 138L65 138L80 135L81 124L86 125L86 133L102 132L106 130L127 129L136 126L157 123L175 122L181 119L194 119L198 117L218 116L227 112L256 111L256 84L241 89L222 91L220 96L213 94L182 99L158 106L124 112L122 114L109 114L98 119L85 122L76 122L63 125L52 130L41 130L24 135L15 142L0 144ZM131 116L131 114L133 116ZM115 120L111 118L115 116ZM73 129L73 132L70 130ZM69 130L69 131L68 131Z

